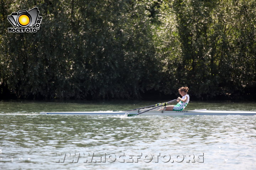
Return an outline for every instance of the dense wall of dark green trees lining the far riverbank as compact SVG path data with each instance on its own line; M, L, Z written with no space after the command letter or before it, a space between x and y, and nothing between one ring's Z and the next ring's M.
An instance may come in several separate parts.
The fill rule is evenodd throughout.
M9 33L33 7L40 29ZM255 75L255 0L0 1L0 99L255 99Z

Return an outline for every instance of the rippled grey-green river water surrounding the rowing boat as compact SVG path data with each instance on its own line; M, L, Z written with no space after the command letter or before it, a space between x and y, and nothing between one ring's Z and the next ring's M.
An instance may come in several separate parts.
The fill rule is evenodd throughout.
M0 169L255 169L256 116L39 115L152 104L0 101ZM203 108L256 111L256 103L191 101L186 109Z

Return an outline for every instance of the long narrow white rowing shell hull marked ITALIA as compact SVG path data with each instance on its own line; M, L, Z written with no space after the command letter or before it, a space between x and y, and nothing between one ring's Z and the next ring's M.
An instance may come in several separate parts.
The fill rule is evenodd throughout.
M99 111L99 112L40 112L42 115L127 115L137 114L138 111ZM253 116L256 112L249 111L207 111L206 109L193 111L148 111L140 115L163 115L163 116L184 116L184 115L246 115Z

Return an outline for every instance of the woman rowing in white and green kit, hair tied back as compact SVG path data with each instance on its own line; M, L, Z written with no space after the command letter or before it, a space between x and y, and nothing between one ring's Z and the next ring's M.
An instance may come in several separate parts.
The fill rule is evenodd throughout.
M182 98L178 97L178 104L176 104L175 106L166 106L166 111L183 111L183 109L185 109L185 107L187 106L189 102L189 95L187 94L188 87L181 87L180 89L178 89L178 92L180 93Z

